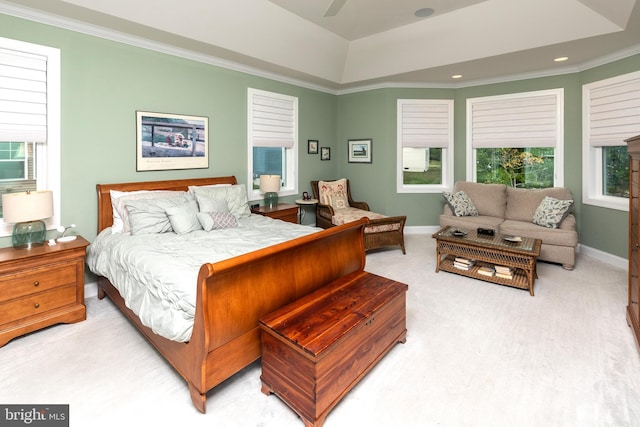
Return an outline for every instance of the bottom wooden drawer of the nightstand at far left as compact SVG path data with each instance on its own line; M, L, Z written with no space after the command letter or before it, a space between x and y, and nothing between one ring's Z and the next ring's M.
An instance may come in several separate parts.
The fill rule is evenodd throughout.
M64 307L75 301L75 284L8 301L0 304L0 325Z

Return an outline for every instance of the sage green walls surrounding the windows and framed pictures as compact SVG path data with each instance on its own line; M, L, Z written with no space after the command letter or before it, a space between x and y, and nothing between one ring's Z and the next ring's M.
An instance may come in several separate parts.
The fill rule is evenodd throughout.
M640 55L552 77L461 89L373 89L333 95L214 65L174 57L81 33L0 15L2 37L53 46L62 52L62 222L96 234L97 183L236 175L245 183L247 88L299 98L299 191L309 181L347 177L354 197L388 215L407 215L409 226L435 226L440 194L398 194L396 100L455 101L455 179L465 179L466 99L551 88L565 91L565 186L576 199L580 242L616 256L627 252L627 213L583 205L582 84L640 70ZM209 167L136 172L135 111L209 117ZM372 163L348 163L347 140L371 138ZM331 160L307 154L307 140L331 148ZM284 201L292 202L295 196ZM10 245L9 238L0 246Z

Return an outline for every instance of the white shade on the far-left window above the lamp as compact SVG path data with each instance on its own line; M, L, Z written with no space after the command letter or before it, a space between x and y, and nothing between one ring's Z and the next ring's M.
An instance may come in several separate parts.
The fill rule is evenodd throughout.
M46 140L47 58L0 49L0 141Z

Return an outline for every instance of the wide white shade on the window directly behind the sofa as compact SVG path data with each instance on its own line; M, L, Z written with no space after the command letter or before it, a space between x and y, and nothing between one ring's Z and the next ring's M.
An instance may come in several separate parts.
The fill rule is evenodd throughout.
M561 93L518 94L473 100L472 147L555 147L562 109Z

